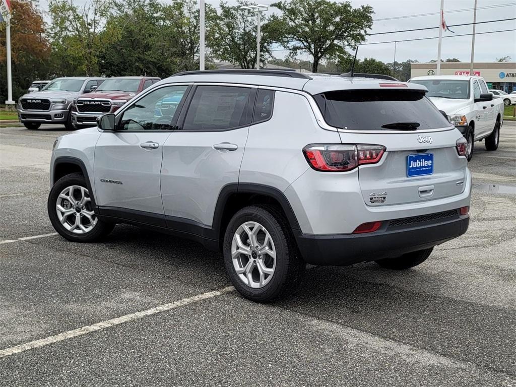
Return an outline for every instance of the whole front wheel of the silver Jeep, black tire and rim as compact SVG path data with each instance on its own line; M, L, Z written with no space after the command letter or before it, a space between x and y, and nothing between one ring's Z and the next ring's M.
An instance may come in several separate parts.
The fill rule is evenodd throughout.
M73 187L71 191L73 192L73 201L76 204L67 199L67 196L70 197L70 187ZM58 204L60 208L63 208L63 211L58 210ZM115 227L115 224L104 222L96 217L91 205L86 180L81 173L71 173L63 176L54 184L50 190L47 209L54 229L63 238L73 242L99 240L109 234ZM68 214L66 214L66 210L69 211ZM79 219L78 222L77 219Z

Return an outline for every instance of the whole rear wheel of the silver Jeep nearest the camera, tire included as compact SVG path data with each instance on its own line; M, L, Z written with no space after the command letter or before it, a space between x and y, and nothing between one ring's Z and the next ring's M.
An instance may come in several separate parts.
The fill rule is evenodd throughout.
M252 245L250 234L253 232L256 245L262 249L267 247L275 259L267 252L261 254L256 245L254 249L248 248ZM240 246L244 246L248 253L237 253L233 260L232 251L242 250L238 247L237 234ZM233 216L225 230L223 254L228 276L237 291L256 302L272 301L291 291L299 283L306 266L287 220L277 207L271 205L244 207Z

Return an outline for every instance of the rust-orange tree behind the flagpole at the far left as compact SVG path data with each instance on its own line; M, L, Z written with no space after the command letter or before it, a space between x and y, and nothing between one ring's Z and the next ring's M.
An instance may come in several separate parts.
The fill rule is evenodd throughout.
M5 23L0 23L0 100L7 99ZM11 0L12 91L16 100L31 82L47 77L50 43L41 12L33 2Z

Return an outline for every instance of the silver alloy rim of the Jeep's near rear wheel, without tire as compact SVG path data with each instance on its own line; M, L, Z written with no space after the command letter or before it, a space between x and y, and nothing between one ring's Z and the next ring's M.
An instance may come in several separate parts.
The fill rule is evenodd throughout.
M267 285L276 269L276 248L262 224L241 224L231 244L233 267L240 281L252 288Z

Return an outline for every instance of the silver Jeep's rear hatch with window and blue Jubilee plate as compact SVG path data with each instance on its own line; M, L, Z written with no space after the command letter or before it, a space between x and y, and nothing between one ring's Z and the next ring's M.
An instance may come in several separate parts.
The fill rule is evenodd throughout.
M367 205L431 201L464 191L467 163L456 148L461 135L423 90L343 90L315 98L326 121L342 128L342 143L386 148L379 162L359 166Z

